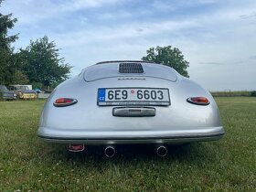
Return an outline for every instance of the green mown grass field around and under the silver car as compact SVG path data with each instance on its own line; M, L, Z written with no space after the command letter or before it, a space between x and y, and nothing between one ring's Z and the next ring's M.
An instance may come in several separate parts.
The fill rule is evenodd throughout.
M222 140L169 146L102 147L70 155L37 139L44 101L0 102L0 191L256 191L256 98L216 98Z

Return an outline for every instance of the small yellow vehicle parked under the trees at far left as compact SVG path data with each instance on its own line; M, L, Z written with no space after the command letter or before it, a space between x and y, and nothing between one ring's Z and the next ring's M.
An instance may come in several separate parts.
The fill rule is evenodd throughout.
M10 85L10 91L15 91L18 99L37 99L37 92L29 90L27 85Z

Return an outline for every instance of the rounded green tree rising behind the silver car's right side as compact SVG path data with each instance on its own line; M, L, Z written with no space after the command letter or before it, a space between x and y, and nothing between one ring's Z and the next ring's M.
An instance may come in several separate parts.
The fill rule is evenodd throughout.
M149 48L146 54L147 55L142 58L143 60L154 61L155 63L172 67L181 75L187 78L189 77L187 73L189 63L184 59L182 52L178 48L157 46L156 48Z

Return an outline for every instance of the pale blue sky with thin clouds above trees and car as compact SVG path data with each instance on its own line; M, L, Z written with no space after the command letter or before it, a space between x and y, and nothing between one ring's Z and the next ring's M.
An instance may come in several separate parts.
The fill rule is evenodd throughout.
M5 0L0 9L18 19L16 50L48 36L71 76L170 45L209 91L256 90L255 0Z

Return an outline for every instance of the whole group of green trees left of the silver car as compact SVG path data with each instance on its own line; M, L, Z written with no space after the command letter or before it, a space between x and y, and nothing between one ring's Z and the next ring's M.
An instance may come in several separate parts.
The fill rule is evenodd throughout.
M0 0L0 6L3 0ZM0 84L33 84L48 87L69 77L71 66L59 57L59 48L48 37L30 40L27 48L15 52L12 43L18 34L8 36L17 22L12 14L0 13Z

